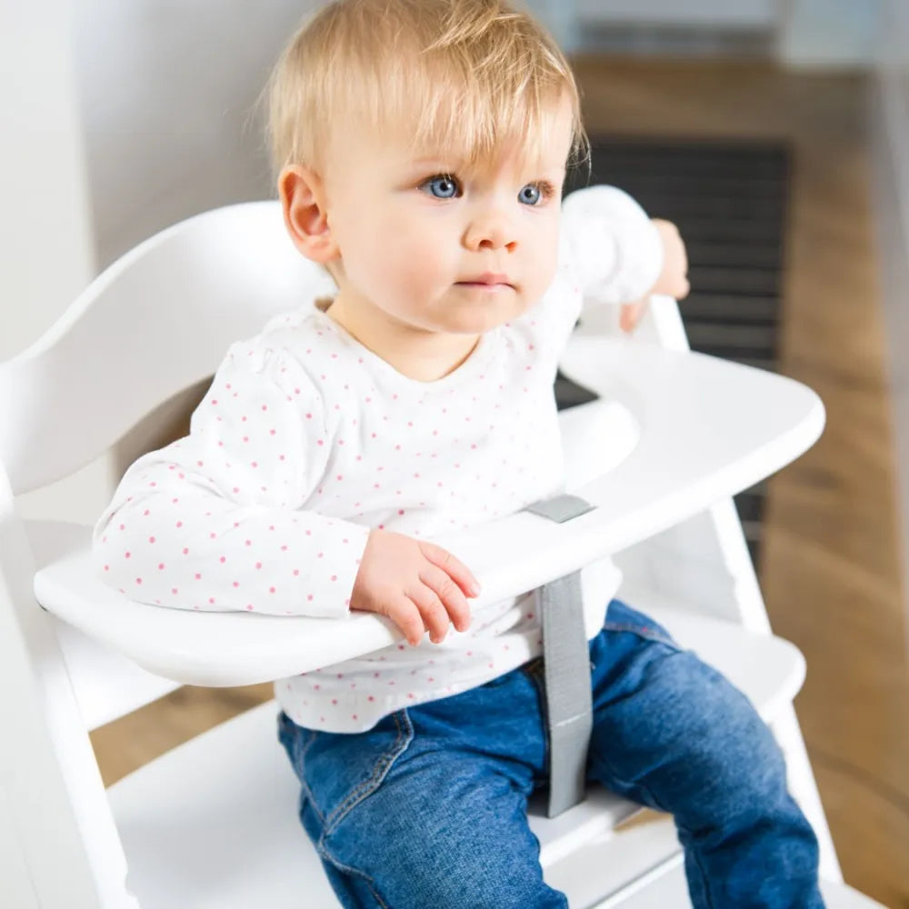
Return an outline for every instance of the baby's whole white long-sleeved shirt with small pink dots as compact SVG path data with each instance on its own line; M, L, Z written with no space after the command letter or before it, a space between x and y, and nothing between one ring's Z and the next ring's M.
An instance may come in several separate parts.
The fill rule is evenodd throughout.
M432 538L558 494L553 381L583 297L639 297L662 265L653 225L611 187L568 197L561 251L539 303L434 382L398 373L312 301L233 345L189 435L126 472L95 527L98 570L151 604L343 619L371 528ZM600 567L588 637L617 586ZM297 724L357 732L541 650L530 592L441 644L427 634L280 680L275 694Z

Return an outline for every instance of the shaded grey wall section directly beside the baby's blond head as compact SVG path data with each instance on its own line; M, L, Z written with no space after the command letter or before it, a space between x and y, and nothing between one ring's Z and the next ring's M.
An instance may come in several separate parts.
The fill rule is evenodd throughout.
M272 193L255 101L315 0L76 0L99 259Z

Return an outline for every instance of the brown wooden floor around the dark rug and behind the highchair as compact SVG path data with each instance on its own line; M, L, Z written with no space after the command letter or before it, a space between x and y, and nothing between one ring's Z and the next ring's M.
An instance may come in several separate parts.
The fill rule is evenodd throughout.
M845 878L909 907L909 665L867 86L754 63L587 58L577 72L591 132L782 138L794 150L780 365L822 396L828 423L770 481L760 574L774 630L807 657L796 709ZM183 689L98 730L105 780L267 696Z

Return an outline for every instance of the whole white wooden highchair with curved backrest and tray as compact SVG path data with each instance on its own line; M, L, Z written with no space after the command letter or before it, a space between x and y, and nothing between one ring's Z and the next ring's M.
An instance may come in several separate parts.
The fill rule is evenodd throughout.
M277 203L234 205L136 247L0 365L7 909L338 905L296 817L274 703L107 791L88 731L179 684L305 672L391 644L395 628L365 613L340 624L131 602L95 576L91 528L25 522L14 500L75 472L212 375L230 343L326 289L287 240ZM791 705L804 661L770 634L730 499L812 445L823 407L791 380L690 353L672 300L654 300L632 339L597 332L613 315L604 312L584 317L563 362L600 395L562 415L568 492L593 507L562 523L521 512L437 542L480 580L477 608L614 554L620 596L716 665L772 724L822 845L828 905L875 905L842 884ZM578 794L570 768L559 774L567 788L563 804L550 804L555 816L531 805L549 883L576 909L689 905L671 822L622 829L635 806L602 791L562 810Z

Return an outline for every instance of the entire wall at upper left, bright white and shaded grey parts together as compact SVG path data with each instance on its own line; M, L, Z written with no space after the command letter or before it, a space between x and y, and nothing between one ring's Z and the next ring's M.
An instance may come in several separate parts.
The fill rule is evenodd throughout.
M315 5L0 3L0 358L145 236L271 193L253 108Z

